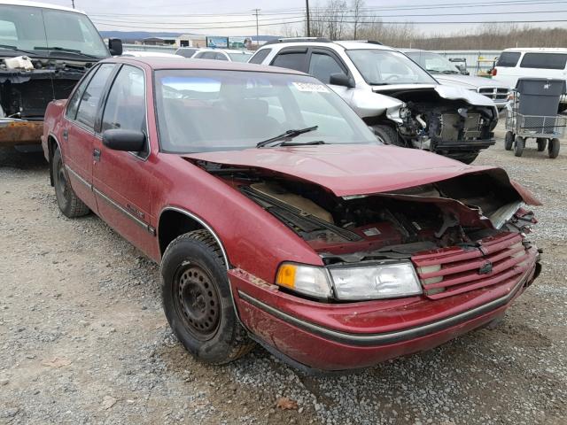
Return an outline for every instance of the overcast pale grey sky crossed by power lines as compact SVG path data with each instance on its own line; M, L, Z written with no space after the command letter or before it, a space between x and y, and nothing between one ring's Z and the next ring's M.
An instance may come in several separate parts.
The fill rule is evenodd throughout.
M71 0L43 1L71 5ZM325 3L326 0L311 0L310 7ZM434 22L416 25L426 34L449 35L480 25L447 23L456 21L567 21L567 1L559 0L366 0L364 3L365 16L380 16L384 22ZM303 23L297 21L304 19L305 0L75 0L75 7L89 13L99 30L204 35L254 35L252 10L259 8L260 34L281 35L286 27L303 28ZM283 22L288 24L283 26ZM532 27L567 27L567 22L533 22Z

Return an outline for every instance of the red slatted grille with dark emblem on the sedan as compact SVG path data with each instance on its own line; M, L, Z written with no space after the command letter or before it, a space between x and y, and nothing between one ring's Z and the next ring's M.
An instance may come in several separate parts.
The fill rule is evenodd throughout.
M475 247L454 246L417 253L411 260L428 298L446 298L505 282L528 267L522 236L506 233L478 241Z

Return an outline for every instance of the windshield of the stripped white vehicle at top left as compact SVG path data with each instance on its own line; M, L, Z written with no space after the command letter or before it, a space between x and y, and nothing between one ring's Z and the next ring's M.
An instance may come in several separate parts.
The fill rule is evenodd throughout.
M109 56L105 43L82 13L41 7L0 4L0 47L27 50L27 56L64 56L84 53L97 58ZM58 48L55 50L55 48ZM70 52L62 50L73 50ZM20 56L22 52L10 53Z

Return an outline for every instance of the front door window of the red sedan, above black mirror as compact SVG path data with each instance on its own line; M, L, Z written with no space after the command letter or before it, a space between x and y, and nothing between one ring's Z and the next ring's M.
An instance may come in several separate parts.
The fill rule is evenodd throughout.
M144 72L122 66L106 99L102 131L122 128L145 133Z

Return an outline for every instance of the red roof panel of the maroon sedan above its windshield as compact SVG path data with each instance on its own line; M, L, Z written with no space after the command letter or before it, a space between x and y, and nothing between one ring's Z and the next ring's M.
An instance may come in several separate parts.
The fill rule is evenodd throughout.
M224 60L195 59L187 58L156 58L156 57L116 57L106 58L100 63L112 62L120 64L133 64L150 66L151 69L207 69L212 71L249 71L260 73L291 73L296 75L307 75L293 69L280 68L278 66L263 66L247 64L244 62L229 62Z

